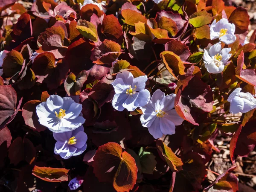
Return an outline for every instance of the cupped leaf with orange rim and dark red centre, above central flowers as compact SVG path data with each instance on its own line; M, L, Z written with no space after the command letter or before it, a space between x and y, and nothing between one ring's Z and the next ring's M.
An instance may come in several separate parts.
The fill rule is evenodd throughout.
M177 79L179 75L185 75L185 66L180 57L172 51L163 51L160 53L163 64L166 69Z

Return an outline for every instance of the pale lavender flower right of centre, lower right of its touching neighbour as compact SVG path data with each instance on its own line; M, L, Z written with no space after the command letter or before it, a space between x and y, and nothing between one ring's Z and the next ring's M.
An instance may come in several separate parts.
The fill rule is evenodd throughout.
M140 121L155 138L175 134L175 125L181 125L183 119L174 109L175 94L165 96L160 89L152 95L150 102L141 107L143 115Z

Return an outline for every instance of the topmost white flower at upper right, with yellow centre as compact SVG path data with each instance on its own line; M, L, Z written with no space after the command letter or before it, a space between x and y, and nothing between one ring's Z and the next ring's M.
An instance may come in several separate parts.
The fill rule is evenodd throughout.
M210 38L211 40L219 38L227 45L233 44L236 41L235 30L236 26L227 19L222 18L217 23L215 19L210 27Z

